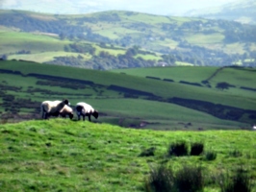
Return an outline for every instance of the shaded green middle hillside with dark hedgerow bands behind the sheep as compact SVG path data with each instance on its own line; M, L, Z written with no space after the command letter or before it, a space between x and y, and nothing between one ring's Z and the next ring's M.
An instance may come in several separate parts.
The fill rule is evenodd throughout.
M204 68L207 76L204 75ZM255 87L252 85L255 76L251 75L255 71L249 68L219 68L219 71L214 67L191 68L194 79L192 75L187 79L181 76L185 78L183 82L175 78L174 82L164 81L172 77L162 73L160 68L156 68L153 78L132 73L128 75L131 70L123 74L15 60L1 61L0 69L2 119L38 119L40 102L68 98L72 107L84 101L98 109L98 122L124 127L240 129L250 128L255 121ZM150 71L148 68L144 70L145 73L139 70L141 75ZM184 70L183 74L186 74L189 68L170 67L162 70L173 70L180 74ZM247 89L241 88L242 84L227 90L216 88L217 83L213 80L218 82L218 73L225 70L238 71L235 77L229 76L228 84L238 84L236 77L243 75L247 76L246 81L250 86L246 86ZM154 79L156 77L159 79ZM207 77L208 83L202 84Z

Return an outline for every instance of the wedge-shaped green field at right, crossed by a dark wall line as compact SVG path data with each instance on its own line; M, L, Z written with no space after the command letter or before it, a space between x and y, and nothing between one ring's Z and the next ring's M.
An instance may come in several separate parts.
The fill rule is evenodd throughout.
M212 86L216 86L219 82L227 82L236 85L238 88L241 86L256 88L256 70L253 68L181 66L115 69L112 71L144 78L173 80L174 82L185 81L200 84L207 80Z

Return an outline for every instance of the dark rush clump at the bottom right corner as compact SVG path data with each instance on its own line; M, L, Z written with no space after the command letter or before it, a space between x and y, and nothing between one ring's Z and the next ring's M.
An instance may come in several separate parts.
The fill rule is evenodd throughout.
M221 192L252 191L252 179L243 167L237 168L232 177L226 175L221 179L219 182Z

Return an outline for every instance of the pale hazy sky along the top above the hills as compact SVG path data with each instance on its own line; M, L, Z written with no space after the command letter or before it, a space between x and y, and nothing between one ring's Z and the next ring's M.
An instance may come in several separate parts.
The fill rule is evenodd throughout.
M89 13L108 10L175 14L218 7L238 0L0 0L0 8L50 13Z

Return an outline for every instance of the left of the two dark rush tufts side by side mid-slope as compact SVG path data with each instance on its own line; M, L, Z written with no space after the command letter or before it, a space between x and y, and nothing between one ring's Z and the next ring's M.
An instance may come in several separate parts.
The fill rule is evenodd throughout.
M179 141L172 143L168 149L169 156L187 156L188 155L188 145L185 141Z

